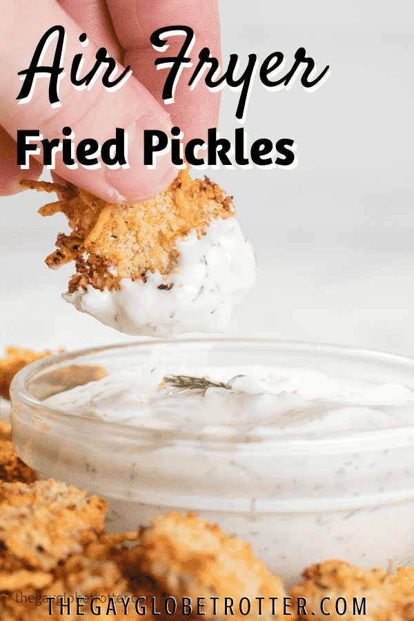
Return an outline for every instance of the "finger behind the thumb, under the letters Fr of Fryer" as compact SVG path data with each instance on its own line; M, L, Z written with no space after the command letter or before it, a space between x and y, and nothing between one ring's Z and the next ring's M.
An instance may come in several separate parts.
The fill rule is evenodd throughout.
M108 0L112 23L121 46L125 48L124 64L130 64L134 75L159 101L172 121L184 132L184 142L192 138L206 140L207 130L218 124L220 92L210 92L199 81L190 90L188 81L198 62L202 48L221 62L219 13L216 0ZM190 52L193 67L184 68L175 89L174 103L164 104L162 90L168 68L157 70L155 60L174 57L184 36L168 38L168 51L152 48L150 35L161 26L185 25L193 28L195 44Z

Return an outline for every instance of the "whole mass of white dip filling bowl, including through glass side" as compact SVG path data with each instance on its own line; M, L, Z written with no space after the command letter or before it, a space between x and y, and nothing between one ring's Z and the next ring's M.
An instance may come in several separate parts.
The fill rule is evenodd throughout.
M49 397L75 431L60 435L64 415L52 412L39 448L28 443L31 464L105 496L110 530L195 511L250 541L286 582L330 558L413 564L413 391L244 366L243 354L238 366L197 357L190 366L186 347L177 364L148 354L146 364ZM170 375L228 388L180 392L164 384Z

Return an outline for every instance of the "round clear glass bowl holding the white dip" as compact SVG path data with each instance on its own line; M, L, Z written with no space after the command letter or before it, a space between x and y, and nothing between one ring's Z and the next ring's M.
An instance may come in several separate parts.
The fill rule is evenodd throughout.
M111 530L151 515L195 511L253 544L290 582L311 562L340 558L392 569L414 555L414 406L406 426L378 431L193 437L90 420L43 403L50 395L141 364L265 364L414 389L414 360L322 344L246 339L140 342L41 359L11 387L14 447L42 477L106 498Z

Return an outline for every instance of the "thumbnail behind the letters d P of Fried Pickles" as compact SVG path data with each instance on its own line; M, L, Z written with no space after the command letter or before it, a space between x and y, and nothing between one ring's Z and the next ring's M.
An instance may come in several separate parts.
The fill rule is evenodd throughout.
M125 129L128 135L129 168L106 168L106 181L126 202L143 201L157 195L177 177L178 170L171 162L170 151L155 159L155 168L144 165L144 130L161 130L171 137L172 124L164 117L155 119L149 115L139 117Z

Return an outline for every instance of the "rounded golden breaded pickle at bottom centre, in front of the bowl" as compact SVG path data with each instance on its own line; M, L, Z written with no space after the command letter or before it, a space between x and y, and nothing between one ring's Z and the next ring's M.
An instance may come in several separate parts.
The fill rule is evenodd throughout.
M217 614L224 613L224 598L235 602L242 598L266 598L260 618L270 618L270 597L276 602L275 620L282 619L283 598L286 596L282 581L270 575L263 561L258 560L247 542L229 536L217 524L199 520L194 513L186 517L179 513L159 515L141 534L135 548L137 566L142 573L155 578L161 591L175 597L205 597L206 619L214 618L213 602L218 596ZM258 609L249 618L259 618ZM236 617L242 617L238 606Z

